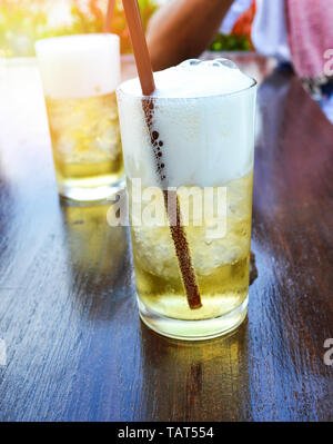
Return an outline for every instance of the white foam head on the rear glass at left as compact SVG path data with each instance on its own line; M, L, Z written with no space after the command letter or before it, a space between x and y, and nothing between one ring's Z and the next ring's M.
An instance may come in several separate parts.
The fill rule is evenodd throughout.
M77 34L42 39L36 53L44 95L81 99L105 95L120 82L120 47L115 34Z

